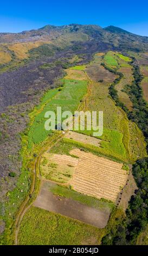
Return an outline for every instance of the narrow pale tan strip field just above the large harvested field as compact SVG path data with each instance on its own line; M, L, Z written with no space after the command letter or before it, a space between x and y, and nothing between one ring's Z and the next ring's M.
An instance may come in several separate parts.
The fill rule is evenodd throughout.
M83 135L82 133L69 131L66 133L65 138L74 139L74 141L82 142L85 144L95 145L96 147L100 147L100 139L90 137L87 135Z

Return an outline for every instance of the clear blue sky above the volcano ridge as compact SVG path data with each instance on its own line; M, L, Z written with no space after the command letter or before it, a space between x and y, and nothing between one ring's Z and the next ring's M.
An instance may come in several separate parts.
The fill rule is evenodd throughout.
M1 1L0 32L21 32L70 23L117 26L148 36L148 1Z

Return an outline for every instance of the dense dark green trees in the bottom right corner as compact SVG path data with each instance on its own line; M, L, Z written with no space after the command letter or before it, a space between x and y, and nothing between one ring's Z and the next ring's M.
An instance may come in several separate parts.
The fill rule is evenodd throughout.
M147 225L148 158L137 160L132 172L137 182L136 195L131 197L126 218L118 226L117 232L107 234L103 245L136 245L138 236Z

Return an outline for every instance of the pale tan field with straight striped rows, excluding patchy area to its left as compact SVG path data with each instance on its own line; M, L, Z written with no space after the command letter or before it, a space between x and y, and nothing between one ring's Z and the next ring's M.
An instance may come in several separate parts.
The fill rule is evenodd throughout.
M127 171L122 169L123 164L79 149L73 149L70 154L79 157L78 166L70 179L74 190L115 202L128 176Z

